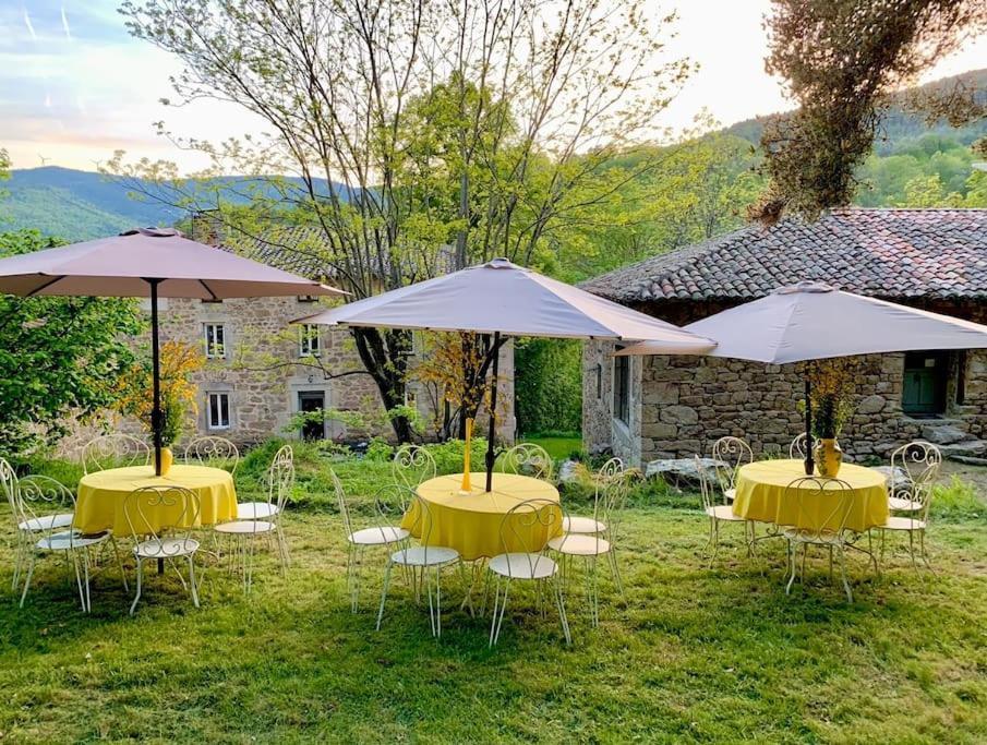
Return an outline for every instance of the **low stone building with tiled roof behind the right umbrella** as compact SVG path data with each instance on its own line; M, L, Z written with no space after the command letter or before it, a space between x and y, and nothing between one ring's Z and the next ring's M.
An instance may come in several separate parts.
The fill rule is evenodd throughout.
M748 226L648 259L585 289L685 325L803 279L987 323L987 209L842 209L817 223ZM841 333L833 328L833 334ZM700 357L583 352L583 440L634 464L708 454L723 435L787 452L804 421L802 368ZM987 454L987 350L857 358L850 458L913 438L948 455Z

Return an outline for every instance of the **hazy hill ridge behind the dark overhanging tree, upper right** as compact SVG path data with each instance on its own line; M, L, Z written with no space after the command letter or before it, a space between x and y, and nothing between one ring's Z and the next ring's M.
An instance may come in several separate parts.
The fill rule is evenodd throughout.
M943 77L920 86L919 91L935 91L946 88L956 83L976 92L979 100L987 101L987 69L972 70L951 77ZM907 92L898 94L898 100L903 101ZM769 117L755 117L745 119L727 127L724 132L733 134L751 144L760 144L761 133L765 131L765 122ZM893 106L881 119L881 128L874 151L878 155L893 155L908 149L920 137L936 134L948 137L961 145L970 145L983 136L987 136L987 121L978 121L965 127L953 128L946 121L936 122L932 125L926 123L920 116L905 111L900 105Z

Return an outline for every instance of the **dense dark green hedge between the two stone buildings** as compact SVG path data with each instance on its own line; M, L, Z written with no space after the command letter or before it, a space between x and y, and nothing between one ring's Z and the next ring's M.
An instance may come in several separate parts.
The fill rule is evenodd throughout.
M582 344L518 339L514 348L515 417L520 432L582 429Z

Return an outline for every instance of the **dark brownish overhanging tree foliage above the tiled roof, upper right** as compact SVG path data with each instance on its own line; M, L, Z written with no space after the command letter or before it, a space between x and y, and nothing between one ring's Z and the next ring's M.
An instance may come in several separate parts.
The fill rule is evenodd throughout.
M799 105L772 118L761 139L770 184L751 216L771 223L785 209L815 218L851 202L855 171L871 151L890 94L987 28L987 3L773 0L766 25L767 71L785 81ZM956 89L913 103L953 123L987 113Z

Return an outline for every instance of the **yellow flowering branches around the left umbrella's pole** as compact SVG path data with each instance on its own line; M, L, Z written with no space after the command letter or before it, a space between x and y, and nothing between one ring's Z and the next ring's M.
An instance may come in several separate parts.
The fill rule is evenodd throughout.
M192 375L202 370L203 356L197 347L181 341L161 345L161 444L172 445L184 431L190 414L195 416L196 387ZM118 382L120 412L135 417L151 432L154 409L154 371L151 359L135 362Z

